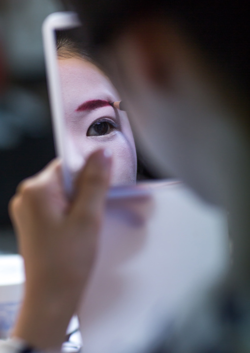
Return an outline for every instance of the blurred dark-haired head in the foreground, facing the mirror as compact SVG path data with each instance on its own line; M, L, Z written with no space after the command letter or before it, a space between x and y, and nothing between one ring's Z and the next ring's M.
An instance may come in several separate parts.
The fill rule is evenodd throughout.
M160 174L171 172L207 201L225 206L246 252L246 239L240 239L250 228L248 3L64 3L78 12L82 39L125 100Z

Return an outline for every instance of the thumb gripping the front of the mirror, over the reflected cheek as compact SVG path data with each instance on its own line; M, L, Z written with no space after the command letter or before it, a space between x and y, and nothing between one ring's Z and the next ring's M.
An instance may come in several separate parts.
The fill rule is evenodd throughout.
M111 164L111 152L107 149L95 151L87 160L77 178L71 208L71 216L77 222L94 220L102 213L110 181Z

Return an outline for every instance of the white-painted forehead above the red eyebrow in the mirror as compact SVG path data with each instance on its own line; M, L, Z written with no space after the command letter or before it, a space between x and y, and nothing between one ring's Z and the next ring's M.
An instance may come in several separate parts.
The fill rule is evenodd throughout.
M78 95L84 100L118 97L109 79L93 63L78 58L59 59L58 63L63 93L71 99Z

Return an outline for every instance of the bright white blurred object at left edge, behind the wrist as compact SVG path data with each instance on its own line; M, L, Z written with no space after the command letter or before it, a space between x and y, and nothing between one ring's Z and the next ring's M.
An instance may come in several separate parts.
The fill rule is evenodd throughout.
M0 255L0 338L13 327L24 292L24 264L20 255Z

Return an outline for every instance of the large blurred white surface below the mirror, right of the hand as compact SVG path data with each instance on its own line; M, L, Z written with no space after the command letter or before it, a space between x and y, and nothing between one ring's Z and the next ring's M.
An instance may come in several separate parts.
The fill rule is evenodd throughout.
M185 320L228 260L224 212L182 183L152 183L148 197L110 200L79 310L84 352L147 352L166 327Z

